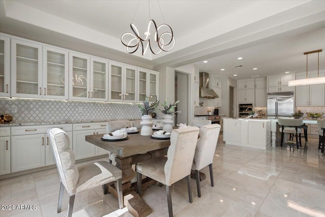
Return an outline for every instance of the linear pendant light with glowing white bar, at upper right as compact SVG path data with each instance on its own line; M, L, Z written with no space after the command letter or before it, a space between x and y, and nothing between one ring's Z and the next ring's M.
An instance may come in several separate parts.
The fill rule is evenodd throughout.
M306 78L288 81L288 86L301 86L301 85L309 85L309 84L323 84L325 83L325 77L319 77L319 52L322 50L313 50L305 52L306 55ZM318 69L317 69L317 77L316 78L308 78L308 54L318 53Z

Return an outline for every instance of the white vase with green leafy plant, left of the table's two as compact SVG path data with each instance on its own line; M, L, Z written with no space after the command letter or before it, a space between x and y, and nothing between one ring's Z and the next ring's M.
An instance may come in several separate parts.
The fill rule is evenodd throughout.
M152 135L152 117L150 114L158 107L159 100L155 97L155 101L153 103L149 103L149 98L146 97L145 101L142 101L142 104L138 105L140 111L142 113L142 121L140 124L141 127L141 136L151 136Z

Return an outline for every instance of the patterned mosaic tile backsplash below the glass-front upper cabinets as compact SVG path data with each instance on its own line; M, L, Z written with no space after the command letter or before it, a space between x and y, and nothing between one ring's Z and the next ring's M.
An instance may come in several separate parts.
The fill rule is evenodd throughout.
M17 106L17 113L12 112ZM82 108L82 112L79 111ZM37 99L0 99L0 114L13 115L12 122L96 121L141 119L138 104Z

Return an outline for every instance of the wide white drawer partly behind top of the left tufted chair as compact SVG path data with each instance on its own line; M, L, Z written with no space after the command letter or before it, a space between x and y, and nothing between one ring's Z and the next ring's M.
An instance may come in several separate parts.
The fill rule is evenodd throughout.
M24 126L24 127L12 127L12 136L19 135L31 135L47 133L50 128L60 128L66 132L72 131L72 125L36 125L36 126Z

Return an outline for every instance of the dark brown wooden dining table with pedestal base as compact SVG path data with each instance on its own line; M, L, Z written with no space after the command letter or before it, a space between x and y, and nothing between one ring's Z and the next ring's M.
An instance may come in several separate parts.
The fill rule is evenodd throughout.
M170 139L152 139L150 136L128 134L128 139L120 141L103 141L104 134L86 136L86 141L115 153L116 167L122 170L122 191L124 205L134 216L146 216L151 208L132 189L131 179L136 175L133 164L159 156L165 156L170 146ZM117 197L116 183L108 187L108 191Z

